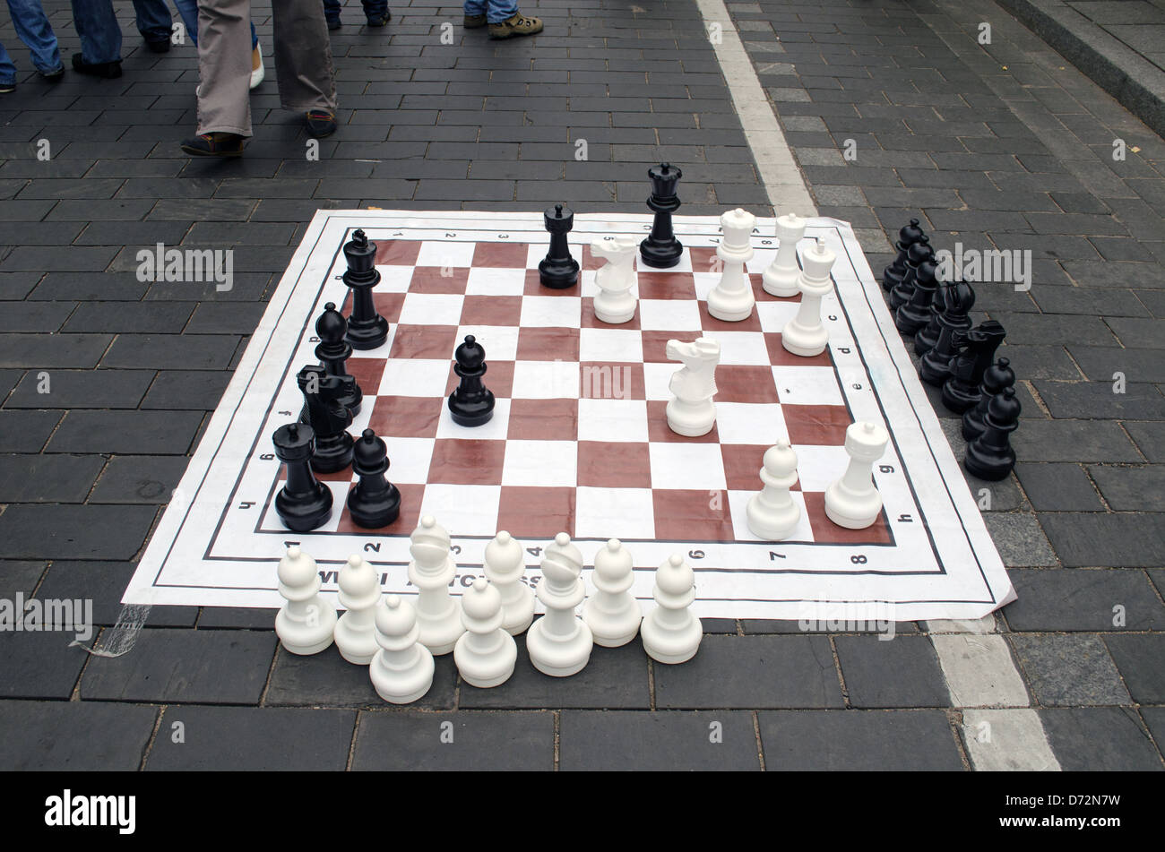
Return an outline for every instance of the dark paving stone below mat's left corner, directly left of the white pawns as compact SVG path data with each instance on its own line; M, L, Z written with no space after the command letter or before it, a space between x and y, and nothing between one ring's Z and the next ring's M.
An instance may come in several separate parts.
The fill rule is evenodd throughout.
M147 627L123 656L94 656L84 700L255 704L275 653L275 632Z

